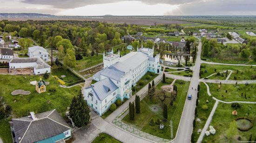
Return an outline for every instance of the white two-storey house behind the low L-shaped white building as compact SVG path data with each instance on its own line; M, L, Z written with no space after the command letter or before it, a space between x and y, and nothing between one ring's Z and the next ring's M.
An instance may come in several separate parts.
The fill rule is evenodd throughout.
M40 46L33 46L28 48L28 56L29 57L40 57L44 61L50 61L50 54L46 49Z

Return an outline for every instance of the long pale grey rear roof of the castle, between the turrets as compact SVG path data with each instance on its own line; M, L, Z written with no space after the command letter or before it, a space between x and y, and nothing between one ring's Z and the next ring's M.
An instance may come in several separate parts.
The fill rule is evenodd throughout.
M112 66L120 71L127 73L129 70L135 69L141 62L148 59L148 55L143 52L130 52L125 56L122 56L119 62Z

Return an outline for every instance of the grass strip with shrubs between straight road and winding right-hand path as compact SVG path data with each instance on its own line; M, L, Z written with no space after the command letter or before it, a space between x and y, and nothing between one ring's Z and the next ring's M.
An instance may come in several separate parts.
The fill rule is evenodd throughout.
M206 103L206 100L209 102ZM197 141L198 137L200 136L200 133L197 133L198 129L203 129L204 124L206 123L207 118L210 115L210 112L212 110L212 107L215 104L215 100L212 99L207 94L207 88L204 83L200 82L200 92L199 92L199 98L198 98L198 106L197 106L197 116L195 117L195 120L199 118L201 122L196 122L196 126L193 128L194 138L195 141ZM203 109L202 106L208 106L208 109Z

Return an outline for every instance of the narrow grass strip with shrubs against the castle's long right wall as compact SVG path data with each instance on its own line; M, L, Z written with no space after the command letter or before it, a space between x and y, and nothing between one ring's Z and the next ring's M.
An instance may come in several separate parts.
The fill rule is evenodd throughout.
M155 77L158 74L152 73L152 72L147 72L144 76L141 77L141 79L139 81L137 81L137 85L136 87L136 91L141 90L141 88L145 87L150 81L152 81L153 79L155 79ZM135 87L133 88L133 92L135 91Z

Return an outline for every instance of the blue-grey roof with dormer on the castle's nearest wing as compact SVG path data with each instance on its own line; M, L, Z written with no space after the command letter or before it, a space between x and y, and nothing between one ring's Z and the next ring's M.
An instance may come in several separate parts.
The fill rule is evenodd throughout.
M111 81L109 78L106 78L94 83L94 85L92 85L91 88L93 88L97 98L102 101L110 93L114 92L118 87L115 85L113 81Z

